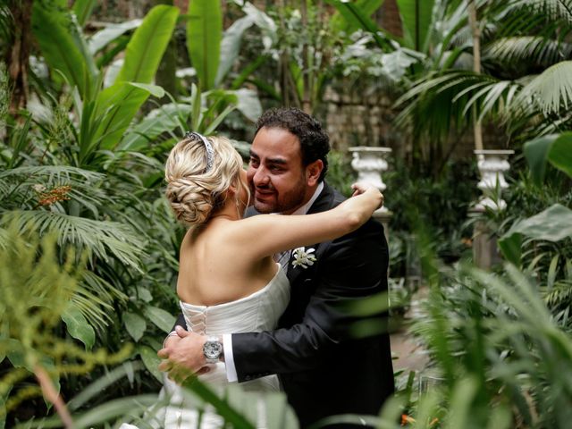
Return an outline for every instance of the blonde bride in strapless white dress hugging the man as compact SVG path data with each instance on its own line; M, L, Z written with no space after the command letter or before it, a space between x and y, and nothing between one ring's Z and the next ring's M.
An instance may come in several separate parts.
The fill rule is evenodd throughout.
M165 179L172 210L189 228L181 243L177 281L181 311L189 331L214 338L273 330L290 299L290 284L276 255L354 231L383 203L374 187L354 184L353 198L323 213L243 218L250 193L239 153L227 139L195 132L172 148ZM229 384L218 359L198 377L214 389ZM201 428L223 427L213 410L198 413L178 384L164 383L170 401L160 427L197 427L198 416ZM278 391L279 383L269 375L240 387ZM122 425L129 427L134 426Z

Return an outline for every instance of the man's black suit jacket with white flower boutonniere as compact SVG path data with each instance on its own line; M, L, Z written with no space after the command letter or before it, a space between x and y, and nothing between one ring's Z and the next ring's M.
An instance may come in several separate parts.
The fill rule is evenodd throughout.
M343 201L324 185L308 214ZM387 290L383 226L372 219L340 239L311 247L314 265L289 264L290 304L278 329L232 335L239 381L279 374L302 427L335 414L376 415L394 391L386 314L380 310L369 317L381 333L357 338L352 327L365 319L347 309Z

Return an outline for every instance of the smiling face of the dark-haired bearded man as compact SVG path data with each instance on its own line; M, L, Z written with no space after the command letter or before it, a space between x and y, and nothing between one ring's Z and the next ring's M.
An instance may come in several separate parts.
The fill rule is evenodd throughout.
M250 148L247 171L257 211L290 214L306 204L317 183L311 165L302 165L299 139L290 131L260 129Z

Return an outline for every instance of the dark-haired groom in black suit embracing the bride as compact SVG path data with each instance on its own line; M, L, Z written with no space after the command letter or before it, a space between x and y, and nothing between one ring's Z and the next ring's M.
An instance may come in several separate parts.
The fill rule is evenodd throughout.
M343 197L324 181L329 150L320 123L299 109L263 114L247 172L257 212L312 214L340 204ZM317 183L308 180L316 164L322 169ZM377 415L394 390L386 315L380 310L366 318L348 308L387 291L383 226L370 220L309 248L315 249L313 265L294 265L292 252L282 255L291 296L277 329L223 336L227 378L243 382L278 374L301 427L336 414ZM177 324L185 325L182 315ZM357 336L357 324L374 326L374 334ZM206 364L206 338L177 332L159 350L167 359L163 368L177 364L199 372Z

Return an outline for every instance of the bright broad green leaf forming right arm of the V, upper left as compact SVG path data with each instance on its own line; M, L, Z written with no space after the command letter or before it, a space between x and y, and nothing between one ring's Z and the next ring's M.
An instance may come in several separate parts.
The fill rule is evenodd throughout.
M125 61L116 82L153 81L164 51L171 40L178 16L177 7L164 4L155 6L147 13L127 45Z

